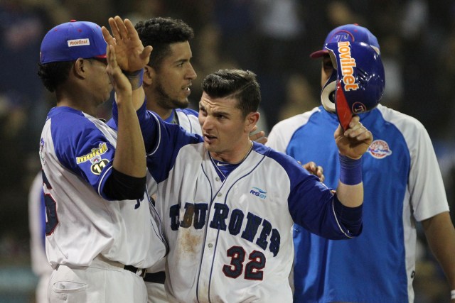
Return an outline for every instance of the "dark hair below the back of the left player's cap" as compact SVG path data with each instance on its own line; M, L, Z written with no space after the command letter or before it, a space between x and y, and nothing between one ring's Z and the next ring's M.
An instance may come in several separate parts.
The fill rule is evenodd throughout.
M38 63L38 76L49 92L55 92L60 84L63 84L70 75L70 69L75 61Z

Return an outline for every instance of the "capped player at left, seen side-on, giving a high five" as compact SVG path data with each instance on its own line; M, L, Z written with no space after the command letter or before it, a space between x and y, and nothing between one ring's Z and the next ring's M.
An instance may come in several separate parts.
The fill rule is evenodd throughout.
M40 142L49 302L146 302L145 268L166 255L134 110L151 47L130 21L109 25L70 21L41 43L38 75L57 97ZM96 118L112 87L118 132Z

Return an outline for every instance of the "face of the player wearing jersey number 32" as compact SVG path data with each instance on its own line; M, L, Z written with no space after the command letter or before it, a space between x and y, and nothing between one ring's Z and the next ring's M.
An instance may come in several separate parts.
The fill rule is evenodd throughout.
M259 113L243 116L232 97L211 98L203 92L199 102L199 123L204 146L216 160L239 162L250 149L249 134Z

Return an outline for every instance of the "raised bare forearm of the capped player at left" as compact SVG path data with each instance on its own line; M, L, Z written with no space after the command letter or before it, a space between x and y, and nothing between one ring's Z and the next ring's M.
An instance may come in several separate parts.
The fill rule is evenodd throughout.
M146 175L144 140L134 105L128 98L132 98L132 95L117 95L118 131L113 167L124 175L144 177Z

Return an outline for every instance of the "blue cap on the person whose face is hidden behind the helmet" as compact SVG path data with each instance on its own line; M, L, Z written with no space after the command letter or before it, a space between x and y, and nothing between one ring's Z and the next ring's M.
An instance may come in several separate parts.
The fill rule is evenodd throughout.
M330 33L328 33L322 50L317 50L316 52L311 53L310 57L316 59L322 57L323 55L327 55L328 43L338 43L342 41L366 43L370 45L376 53L378 53L378 55L380 55L379 43L375 35L368 31L368 28L364 28L363 26L359 26L357 23L354 23L334 28Z

